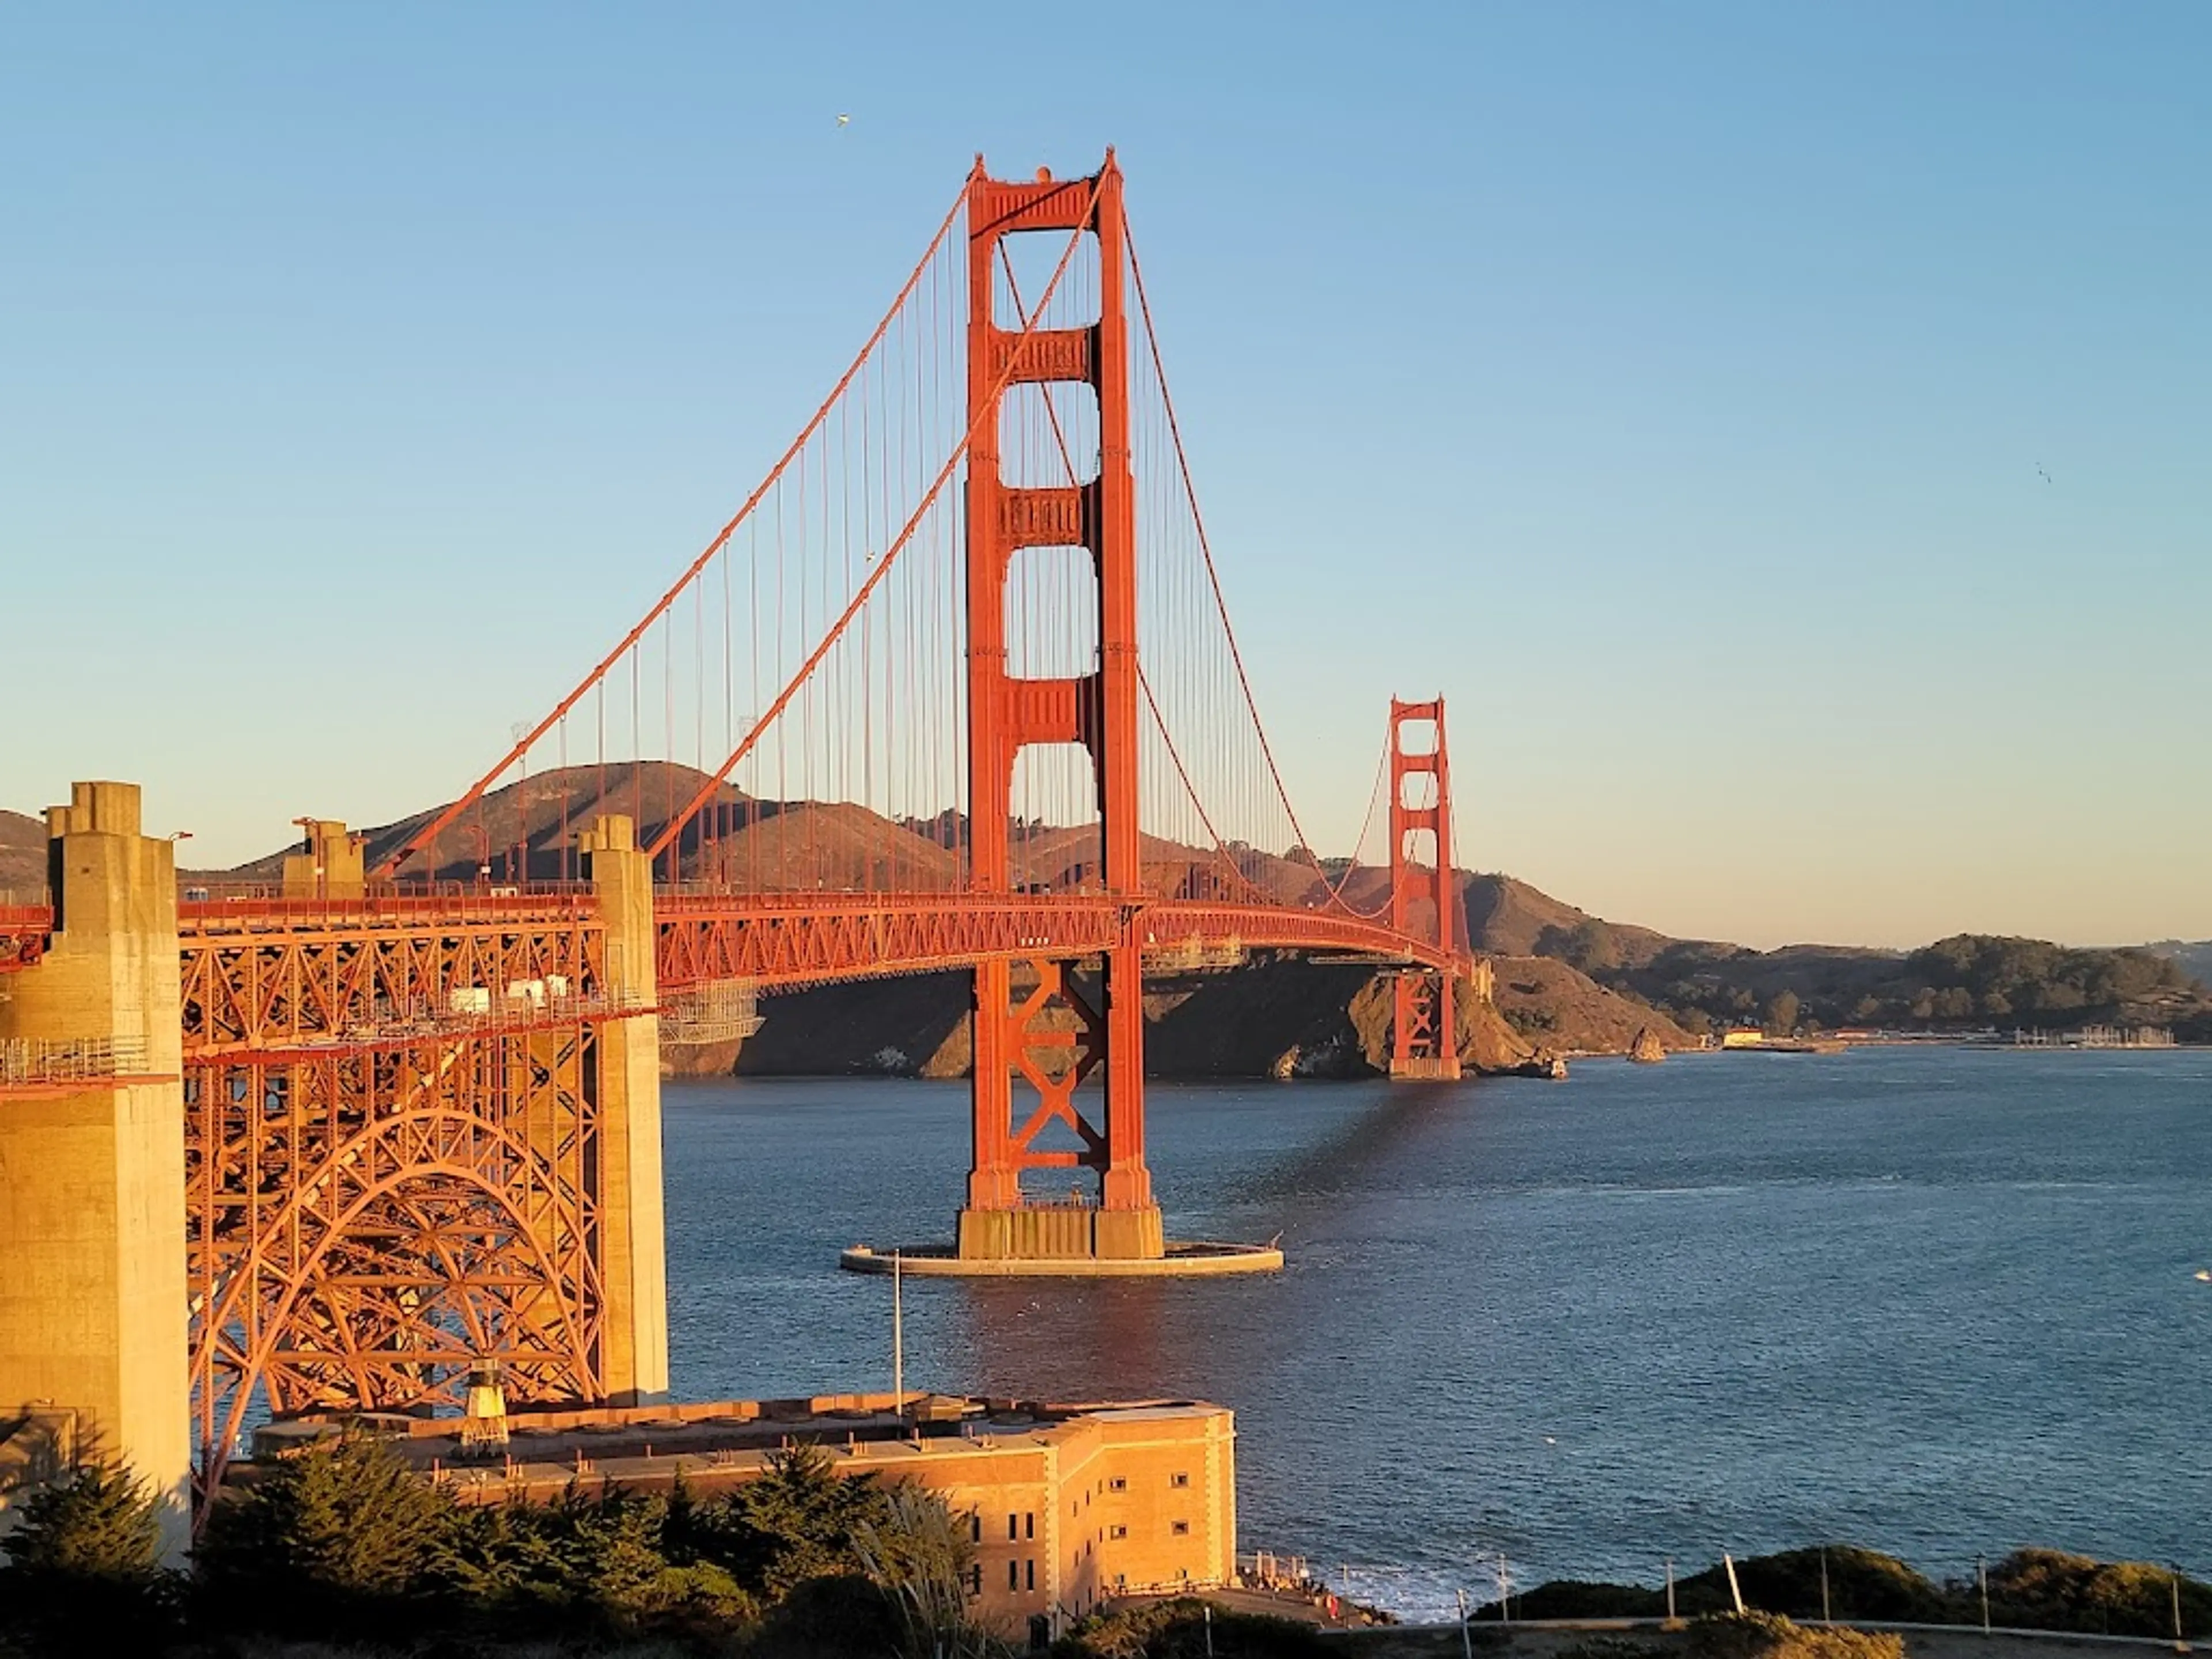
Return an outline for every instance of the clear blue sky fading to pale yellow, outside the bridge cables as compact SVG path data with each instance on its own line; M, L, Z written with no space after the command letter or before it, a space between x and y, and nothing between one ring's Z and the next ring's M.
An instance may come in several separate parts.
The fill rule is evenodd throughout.
M1316 841L1442 690L1462 863L1619 920L2212 936L2208 75L2197 0L9 7L0 805L449 799L975 150L1110 142Z

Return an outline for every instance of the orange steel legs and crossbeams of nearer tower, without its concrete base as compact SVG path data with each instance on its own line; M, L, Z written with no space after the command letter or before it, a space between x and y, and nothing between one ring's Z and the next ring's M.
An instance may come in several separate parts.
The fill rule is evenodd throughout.
M1121 170L1113 153L1095 179L1035 184L993 179L978 157L967 190L969 226L969 471L967 471L967 708L969 708L969 883L1009 891L1009 814L1015 757L1033 743L1082 743L1097 779L1102 885L1135 900L1137 841L1137 487L1128 434L1128 312L1124 299ZM1088 327L998 327L995 272L1013 232L1097 237L1099 316ZM1077 383L1097 394L1099 473L1091 482L1015 489L1000 467L1000 407L1022 383ZM1006 582L1015 553L1082 546L1097 580L1099 666L1073 679L1006 672ZM1152 1210L1144 1161L1144 962L1128 927L1099 951L1104 967L1097 1046L1088 1064L1106 1073L1106 1152L1099 1203ZM1055 975L1057 978L1057 975ZM1064 978L1060 978L1064 987ZM1022 1203L1015 1155L1013 1075L1035 1086L1031 1031L1013 1002L1011 964L975 967L971 1210ZM1086 1066L1088 1068L1088 1066Z

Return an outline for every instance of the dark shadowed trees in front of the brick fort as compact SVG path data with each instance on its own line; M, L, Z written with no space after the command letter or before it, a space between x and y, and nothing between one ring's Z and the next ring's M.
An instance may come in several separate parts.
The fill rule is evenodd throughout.
M571 1486L471 1506L387 1442L334 1436L208 1511L188 1571L159 1564L155 1495L91 1467L35 1493L4 1544L0 1652L228 1652L246 1639L661 1639L754 1659L1000 1652L971 1617L971 1520L914 1484L776 1453L701 1498Z

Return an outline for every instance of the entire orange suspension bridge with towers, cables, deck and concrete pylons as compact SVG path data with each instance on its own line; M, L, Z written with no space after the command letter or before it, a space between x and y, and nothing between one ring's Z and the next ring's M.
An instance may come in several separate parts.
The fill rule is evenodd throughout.
M49 900L0 909L0 1137L104 1121L102 1179L164 1188L181 1110L204 1486L259 1411L422 1409L484 1360L518 1405L633 1402L668 1385L664 1035L967 969L953 1259L1166 1261L1148 964L1374 962L1391 1073L1458 1075L1475 964L1440 699L1391 701L1376 825L1385 856L1323 860L1283 785L1113 153L1024 181L978 157L759 489L451 805L369 845L307 823L281 883L181 900L128 785L49 814ZM142 993L91 995L102 975ZM1073 1206L1071 1172L1095 1186ZM82 1225L159 1252L164 1206ZM31 1243L66 1267L71 1225ZM75 1358L18 1334L60 1349L0 1391L86 1396L159 1467L166 1429L82 1380L166 1340L126 1307L148 1287L100 1272L55 1294L115 1301L111 1329Z

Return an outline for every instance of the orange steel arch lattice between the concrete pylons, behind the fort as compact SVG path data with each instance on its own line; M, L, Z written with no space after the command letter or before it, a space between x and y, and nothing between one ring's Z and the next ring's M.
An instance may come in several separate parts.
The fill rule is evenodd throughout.
M184 905L201 1482L259 1413L602 1398L586 894Z

